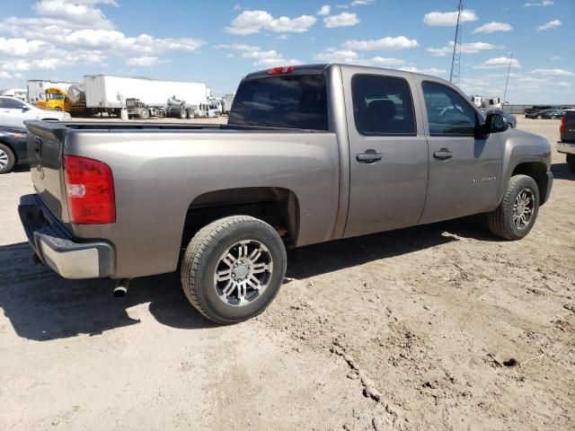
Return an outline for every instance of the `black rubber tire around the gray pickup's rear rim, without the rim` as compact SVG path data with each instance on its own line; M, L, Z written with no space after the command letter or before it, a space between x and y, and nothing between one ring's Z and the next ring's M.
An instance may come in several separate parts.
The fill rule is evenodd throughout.
M255 299L249 303L226 303L217 291L216 271L226 251L246 240L267 248L272 262L267 286L261 294L252 290L250 295ZM270 224L251 216L228 216L203 227L191 239L181 262L181 286L190 303L210 321L230 324L257 316L270 305L283 283L286 265L286 249Z

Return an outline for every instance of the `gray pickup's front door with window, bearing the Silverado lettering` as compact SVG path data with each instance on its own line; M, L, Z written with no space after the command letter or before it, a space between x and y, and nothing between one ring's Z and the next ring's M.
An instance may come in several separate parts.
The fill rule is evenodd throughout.
M426 81L420 88L429 134L428 196L420 223L488 211L500 186L500 137L476 137L478 113L454 89Z

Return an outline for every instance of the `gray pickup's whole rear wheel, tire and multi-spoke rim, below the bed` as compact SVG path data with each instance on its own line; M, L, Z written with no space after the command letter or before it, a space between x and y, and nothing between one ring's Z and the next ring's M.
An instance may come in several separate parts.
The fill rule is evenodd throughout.
M245 321L276 297L286 261L284 244L270 224L251 216L229 216L191 239L181 263L181 286L209 320Z

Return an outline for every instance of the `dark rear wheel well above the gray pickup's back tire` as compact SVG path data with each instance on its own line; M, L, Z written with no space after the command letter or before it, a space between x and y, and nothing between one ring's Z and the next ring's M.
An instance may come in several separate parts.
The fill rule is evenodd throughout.
M188 207L181 248L206 224L225 216L253 216L274 227L284 242L297 240L299 204L296 194L277 187L250 187L210 191Z

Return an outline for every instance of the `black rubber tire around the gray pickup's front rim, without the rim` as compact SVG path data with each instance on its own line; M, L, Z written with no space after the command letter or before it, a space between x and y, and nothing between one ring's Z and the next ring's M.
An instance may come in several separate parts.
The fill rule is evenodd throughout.
M533 196L531 217L526 226L519 228L513 222L514 206L517 196L524 190L530 190ZM535 180L527 175L515 175L509 180L509 185L500 206L487 215L491 233L504 240L515 241L525 238L531 231L539 212L539 189Z

